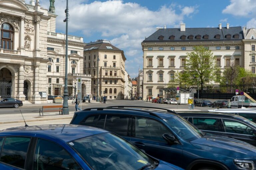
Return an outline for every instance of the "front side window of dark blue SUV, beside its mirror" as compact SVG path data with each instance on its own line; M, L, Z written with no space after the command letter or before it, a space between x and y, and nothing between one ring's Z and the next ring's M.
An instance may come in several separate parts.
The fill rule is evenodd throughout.
M164 133L170 132L161 123L147 118L136 117L135 137L165 142L162 137Z

